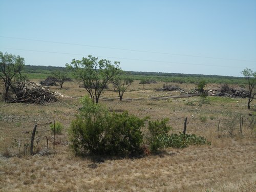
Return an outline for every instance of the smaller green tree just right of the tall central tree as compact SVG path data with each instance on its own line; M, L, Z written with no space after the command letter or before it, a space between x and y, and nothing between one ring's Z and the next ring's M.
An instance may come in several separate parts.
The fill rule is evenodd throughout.
M118 91L120 101L123 98L124 92L131 86L133 79L128 75L125 75L124 71L119 69L117 74L114 76L112 83L115 89Z

